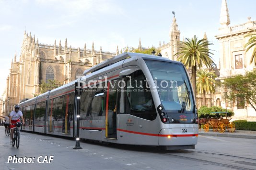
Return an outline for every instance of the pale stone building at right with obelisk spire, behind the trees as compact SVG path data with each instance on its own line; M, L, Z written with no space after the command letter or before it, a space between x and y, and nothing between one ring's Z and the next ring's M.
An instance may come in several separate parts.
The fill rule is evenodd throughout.
M251 71L255 67L250 64L253 49L245 52L244 45L250 39L244 37L247 34L256 33L256 21L251 21L239 25L229 26L230 17L226 0L222 0L220 28L216 38L220 43L220 81L231 78L235 75L244 75L246 71ZM231 109L235 113L234 119L256 120L256 111L244 99L234 99L234 102L225 101L224 94L227 92L224 87L218 87L215 93L216 105ZM239 103L245 102L244 105Z

